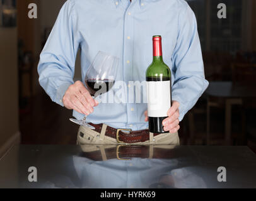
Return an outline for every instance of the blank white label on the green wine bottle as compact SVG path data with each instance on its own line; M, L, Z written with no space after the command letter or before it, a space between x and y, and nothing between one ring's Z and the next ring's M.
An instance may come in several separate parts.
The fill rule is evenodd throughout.
M148 116L166 117L171 107L169 81L147 82Z

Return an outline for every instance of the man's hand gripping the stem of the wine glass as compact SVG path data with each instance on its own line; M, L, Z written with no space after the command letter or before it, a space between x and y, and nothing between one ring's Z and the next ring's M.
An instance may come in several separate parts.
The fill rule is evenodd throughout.
M98 102L91 97L81 81L69 86L62 102L67 109L74 109L86 116L93 112L93 107L98 106Z

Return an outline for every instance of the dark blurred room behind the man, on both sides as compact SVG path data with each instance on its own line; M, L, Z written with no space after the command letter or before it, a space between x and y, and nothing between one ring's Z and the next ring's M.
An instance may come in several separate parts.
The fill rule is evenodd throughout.
M0 155L11 144L75 144L78 126L69 122L72 112L50 100L38 84L37 63L64 0L35 0L38 18L29 19L28 0L17 1L16 23L0 17ZM256 143L256 1L188 1L197 17L206 79L210 86L229 82L238 90L227 112L226 100L205 92L180 123L181 144L248 145ZM227 18L217 17L224 3ZM0 4L1 6L1 4ZM3 10L3 6L1 9ZM3 11L1 12L3 13ZM79 79L79 57L74 79ZM224 81L224 82L223 82ZM222 87L223 85L223 87ZM234 87L233 87L234 86ZM223 92L225 93L225 92ZM208 108L208 110L207 110ZM228 118L230 114L231 118ZM208 118L208 123L207 123ZM227 132L227 122L230 131ZM230 133L230 137L227 137Z

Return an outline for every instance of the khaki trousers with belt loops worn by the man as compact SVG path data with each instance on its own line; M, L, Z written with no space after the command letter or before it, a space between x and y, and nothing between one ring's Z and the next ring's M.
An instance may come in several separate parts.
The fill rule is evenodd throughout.
M98 133L85 126L80 126L78 129L77 143L83 144L119 144L117 139L105 136L107 125L103 124L101 133ZM124 144L124 143L120 143ZM158 136L153 136L153 133L149 133L149 140L143 143L132 143L137 145L147 144L166 144L166 145L180 145L180 138L178 138L178 132L176 133L163 133Z

